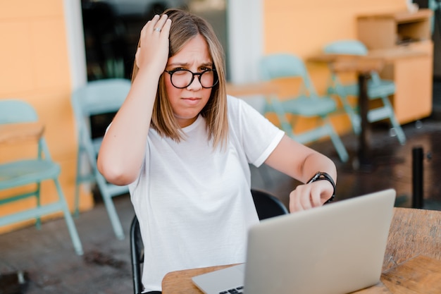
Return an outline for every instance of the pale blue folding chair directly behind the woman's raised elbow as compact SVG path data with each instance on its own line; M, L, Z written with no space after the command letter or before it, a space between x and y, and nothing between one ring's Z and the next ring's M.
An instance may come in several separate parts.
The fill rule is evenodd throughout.
M97 156L104 133L92 137L90 118L99 114L114 114L120 109L131 87L130 80L112 78L94 80L79 87L71 96L77 125L78 156L75 180L75 214L78 214L80 185L97 183L116 237L125 238L112 198L129 192L128 186L108 183L97 169Z

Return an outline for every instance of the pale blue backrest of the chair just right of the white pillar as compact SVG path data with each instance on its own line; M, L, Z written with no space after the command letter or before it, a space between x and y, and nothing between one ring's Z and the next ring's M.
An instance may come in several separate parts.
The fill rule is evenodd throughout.
M311 97L317 95L304 61L294 54L275 53L263 56L259 61L259 73L262 80L301 78L300 93L309 93Z

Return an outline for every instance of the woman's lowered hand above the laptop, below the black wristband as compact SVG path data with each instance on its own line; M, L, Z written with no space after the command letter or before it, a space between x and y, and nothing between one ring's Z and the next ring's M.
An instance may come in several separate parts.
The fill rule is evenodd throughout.
M290 192L290 212L311 209L323 205L334 192L333 185L328 180L298 185Z

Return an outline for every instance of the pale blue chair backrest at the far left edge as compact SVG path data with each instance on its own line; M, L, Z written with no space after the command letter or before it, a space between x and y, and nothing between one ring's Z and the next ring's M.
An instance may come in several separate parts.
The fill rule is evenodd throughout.
M38 121L38 115L35 109L23 100L0 100L0 105L0 124Z

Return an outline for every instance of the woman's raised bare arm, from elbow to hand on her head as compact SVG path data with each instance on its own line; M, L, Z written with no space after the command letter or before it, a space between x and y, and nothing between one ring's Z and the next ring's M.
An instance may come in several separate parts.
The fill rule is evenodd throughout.
M99 150L99 172L115 185L136 180L145 157L159 78L168 60L171 20L154 16L142 28L132 87L125 102L109 125Z

